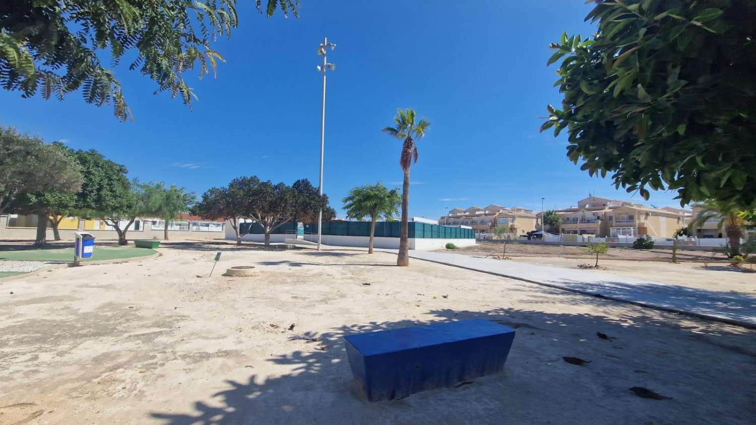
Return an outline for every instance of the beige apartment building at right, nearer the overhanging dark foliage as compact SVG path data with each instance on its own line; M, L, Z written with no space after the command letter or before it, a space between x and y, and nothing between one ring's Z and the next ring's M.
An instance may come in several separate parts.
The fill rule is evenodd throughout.
M692 213L671 207L651 208L622 200L590 196L578 200L578 206L557 209L562 217L563 234L587 234L596 237L651 236L672 237L689 224ZM541 227L541 213L538 228ZM556 228L547 228L556 231Z

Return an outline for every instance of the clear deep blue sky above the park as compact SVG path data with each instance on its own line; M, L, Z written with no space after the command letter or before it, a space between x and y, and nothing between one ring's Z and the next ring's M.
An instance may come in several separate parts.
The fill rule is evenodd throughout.
M587 196L642 201L609 179L590 178L565 157L566 138L539 134L546 105L559 104L547 68L562 31L590 36L581 0L541 2L327 2L302 0L299 19L256 14L240 0L240 26L215 45L227 60L218 78L187 74L199 101L190 111L154 82L116 69L134 123L110 107L23 99L0 91L0 123L71 147L95 148L130 177L166 181L201 194L240 175L318 184L321 76L315 54L336 42L329 61L324 189L339 211L349 188L401 186L399 141L380 129L397 107L432 122L412 168L410 213L438 218L445 208L499 203L567 207ZM649 203L677 206L673 193Z

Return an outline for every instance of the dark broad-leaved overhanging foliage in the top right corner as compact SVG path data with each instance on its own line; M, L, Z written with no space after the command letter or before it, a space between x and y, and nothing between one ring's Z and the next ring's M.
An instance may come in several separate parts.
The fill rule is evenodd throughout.
M594 39L562 35L541 131L568 129L567 155L615 185L677 191L681 204L756 206L756 2L605 0Z

